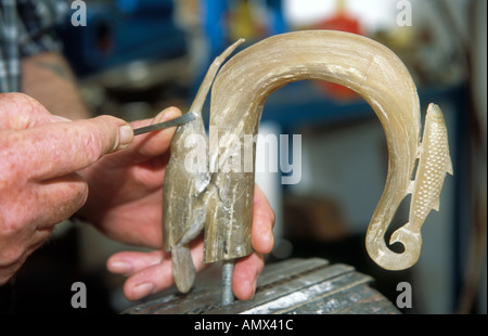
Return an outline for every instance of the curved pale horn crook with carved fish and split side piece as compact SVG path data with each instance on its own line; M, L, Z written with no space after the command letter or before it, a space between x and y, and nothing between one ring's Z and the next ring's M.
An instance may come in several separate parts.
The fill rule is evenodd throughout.
M235 47L235 43L230 47L222 57ZM254 172L243 169L242 161L236 165L235 159L241 158L245 135L257 133L268 95L301 79L345 86L358 92L380 118L388 147L388 172L368 229L367 249L386 269L413 264L421 248L420 228L431 209L437 208L445 173L452 173L452 165L446 126L435 105L427 112L420 144L419 96L403 63L386 47L347 33L306 30L265 39L237 53L217 75L207 142L200 109L222 61L210 67L192 105L191 113L196 113L197 118L177 129L166 170L164 246L172 253L175 280L180 290L187 292L194 276L187 244L204 223L205 262L252 253ZM196 150L200 153L209 150L202 171L189 171L185 166L194 152L194 145L188 140L195 134L200 135L196 142L203 138ZM418 172L412 181L418 158ZM402 254L396 254L387 247L384 236L409 193L412 193L409 223L391 235L390 243L400 242L404 246Z

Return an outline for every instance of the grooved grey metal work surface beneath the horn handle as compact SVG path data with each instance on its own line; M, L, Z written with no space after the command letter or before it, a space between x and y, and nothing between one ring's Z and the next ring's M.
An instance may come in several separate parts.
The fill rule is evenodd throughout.
M126 310L126 314L396 314L400 311L370 287L373 279L352 267L319 258L267 266L252 300L221 307L219 283L175 289Z

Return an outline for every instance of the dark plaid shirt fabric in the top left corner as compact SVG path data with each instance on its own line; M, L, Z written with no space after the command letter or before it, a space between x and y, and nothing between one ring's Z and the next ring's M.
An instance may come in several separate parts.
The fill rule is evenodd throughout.
M68 10L65 0L0 0L0 92L22 90L22 57L61 50L51 28Z

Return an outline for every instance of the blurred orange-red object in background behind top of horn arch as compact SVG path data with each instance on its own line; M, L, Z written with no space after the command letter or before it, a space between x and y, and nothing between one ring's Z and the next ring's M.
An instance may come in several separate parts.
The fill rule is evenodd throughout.
M336 0L335 13L320 23L318 28L362 35L361 24L358 18L347 13L345 0ZM358 96L352 90L336 83L321 81L320 86L334 99L349 100Z

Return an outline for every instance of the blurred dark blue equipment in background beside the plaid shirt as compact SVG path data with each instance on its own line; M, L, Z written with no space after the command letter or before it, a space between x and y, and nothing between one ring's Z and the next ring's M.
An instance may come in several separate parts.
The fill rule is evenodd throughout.
M86 77L132 61L185 54L185 35L172 16L171 0L89 2L87 26L74 27L67 16L57 30L76 75Z

